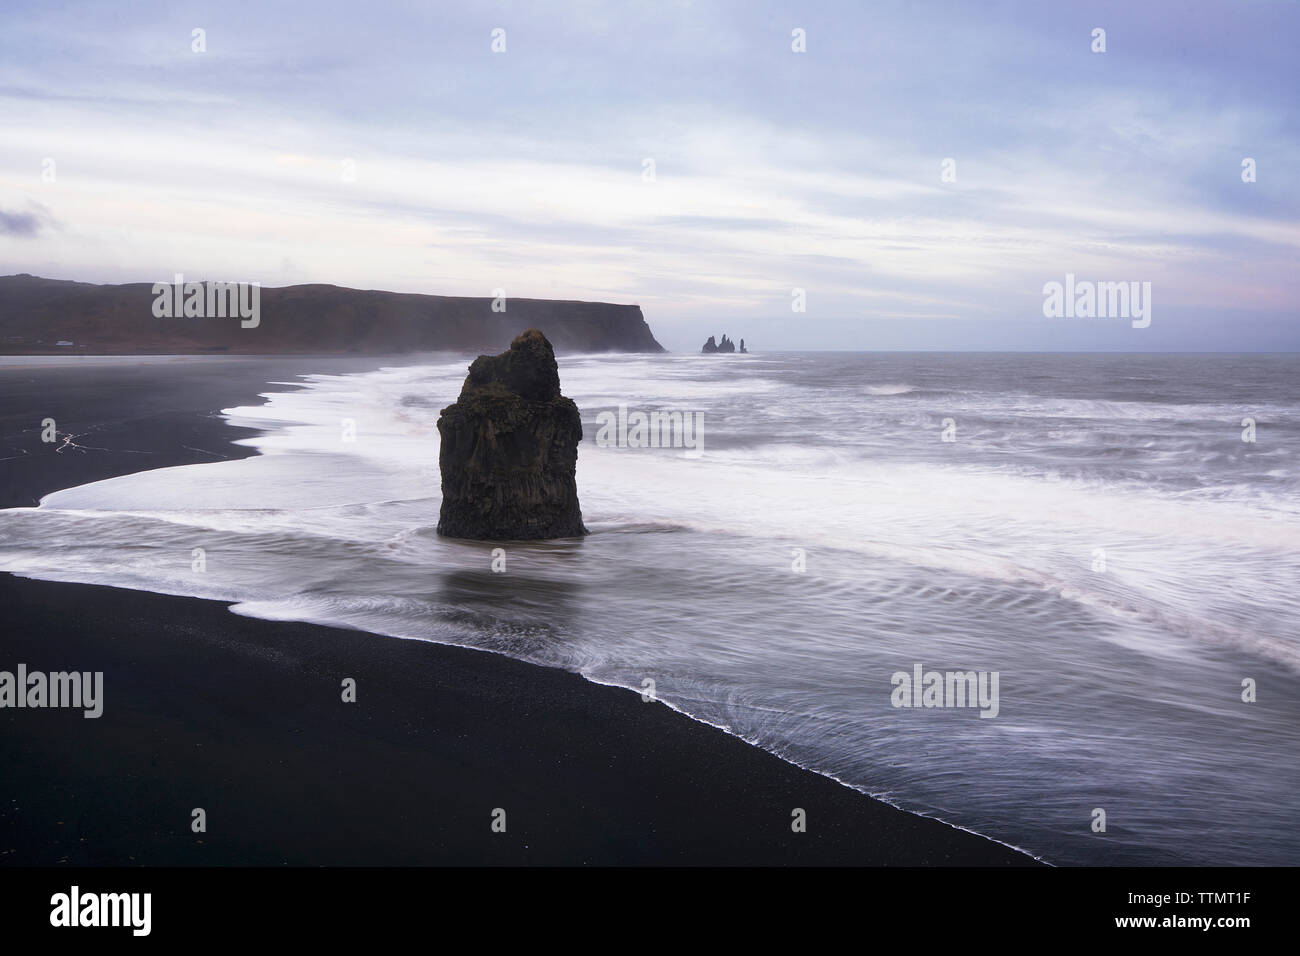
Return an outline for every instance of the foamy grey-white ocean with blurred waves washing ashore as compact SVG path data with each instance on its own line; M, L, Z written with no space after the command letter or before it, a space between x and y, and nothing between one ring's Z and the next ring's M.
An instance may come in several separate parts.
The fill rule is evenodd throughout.
M0 570L564 667L1053 864L1300 864L1300 356L560 356L592 533L500 544L434 532L465 371L294 378L222 412L257 457L0 511Z

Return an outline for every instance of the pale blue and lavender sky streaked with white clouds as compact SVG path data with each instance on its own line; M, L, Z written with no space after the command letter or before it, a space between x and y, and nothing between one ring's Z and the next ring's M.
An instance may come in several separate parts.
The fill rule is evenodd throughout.
M0 273L636 302L681 350L1300 350L1297 44L1249 0L5 0ZM1149 328L1044 317L1066 273L1149 281Z

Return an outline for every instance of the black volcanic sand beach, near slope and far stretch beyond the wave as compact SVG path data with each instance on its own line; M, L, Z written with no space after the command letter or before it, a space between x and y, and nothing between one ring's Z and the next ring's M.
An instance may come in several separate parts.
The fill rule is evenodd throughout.
M376 364L0 368L0 503L244 455L217 410L294 372ZM112 450L55 454L46 416ZM99 719L0 710L5 864L1032 862L638 695L494 654L12 575L0 635L0 670L104 671L105 698Z

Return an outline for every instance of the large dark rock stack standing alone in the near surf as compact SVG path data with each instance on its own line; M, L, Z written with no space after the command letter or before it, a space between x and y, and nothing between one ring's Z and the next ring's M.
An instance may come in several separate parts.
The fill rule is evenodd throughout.
M480 541L586 535L577 503L582 420L560 394L555 350L528 329L480 355L438 419L438 533Z

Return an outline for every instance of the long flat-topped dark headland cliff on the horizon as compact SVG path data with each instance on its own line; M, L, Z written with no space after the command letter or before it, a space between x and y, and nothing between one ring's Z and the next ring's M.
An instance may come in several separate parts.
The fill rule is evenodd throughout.
M295 285L259 290L256 323L246 326L233 307L225 316L159 317L157 298L151 282L3 276L0 354L488 351L534 326L562 351L664 351L640 306L603 302L508 298L494 312L490 298Z

